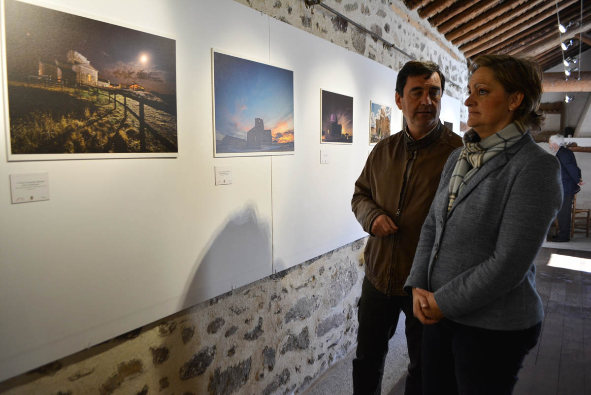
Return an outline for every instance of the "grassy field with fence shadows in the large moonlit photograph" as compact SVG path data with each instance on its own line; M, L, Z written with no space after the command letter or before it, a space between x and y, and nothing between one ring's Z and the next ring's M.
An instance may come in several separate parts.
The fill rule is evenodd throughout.
M9 82L8 98L12 154L162 153L177 144L176 116L144 106L154 131L145 131L142 149L138 119L94 90ZM139 114L137 101L127 104Z

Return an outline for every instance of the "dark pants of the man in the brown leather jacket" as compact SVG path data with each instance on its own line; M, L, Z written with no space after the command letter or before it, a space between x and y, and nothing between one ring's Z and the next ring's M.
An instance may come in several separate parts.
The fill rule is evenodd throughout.
M359 331L357 352L353 360L353 394L379 395L382 389L384 361L388 341L394 335L400 310L406 316L408 375L406 395L423 393L421 389L421 341L423 324L413 316L411 296L386 296L375 289L367 277L363 279L359 299Z

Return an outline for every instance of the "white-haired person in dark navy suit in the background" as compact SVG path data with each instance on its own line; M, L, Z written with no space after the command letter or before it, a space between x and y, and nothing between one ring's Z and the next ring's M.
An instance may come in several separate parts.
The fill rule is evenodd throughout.
M580 186L584 184L581 179L581 170L577 166L573 151L564 147L564 137L560 134L550 136L550 150L556 153L560 162L560 176L562 179L562 206L558 211L558 234L552 237L552 241L566 242L570 240L570 209L573 205L574 194L579 192Z

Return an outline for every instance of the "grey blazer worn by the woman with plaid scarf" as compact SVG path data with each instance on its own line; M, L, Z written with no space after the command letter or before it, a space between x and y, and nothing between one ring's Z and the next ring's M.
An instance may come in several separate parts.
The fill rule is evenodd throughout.
M544 316L534 258L562 203L560 164L527 132L480 168L447 213L461 149L443 169L404 290L434 292L454 322L530 328Z

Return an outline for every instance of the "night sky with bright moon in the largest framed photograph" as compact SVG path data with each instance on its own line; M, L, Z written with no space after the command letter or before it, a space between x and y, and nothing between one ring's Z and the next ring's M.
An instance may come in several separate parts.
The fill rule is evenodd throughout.
M37 75L38 60L66 62L74 50L112 84L176 93L174 40L15 0L5 7L9 79Z

